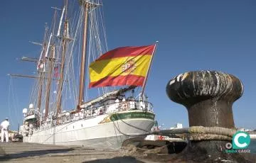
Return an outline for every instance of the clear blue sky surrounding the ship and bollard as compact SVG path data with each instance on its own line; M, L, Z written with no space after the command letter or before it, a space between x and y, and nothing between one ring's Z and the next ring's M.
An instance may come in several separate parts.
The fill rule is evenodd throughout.
M74 0L70 0L74 1ZM0 5L0 120L11 120L11 129L22 122L33 79L14 79L14 74L33 74L35 65L18 57L38 57L44 24L63 1L2 1ZM256 1L237 0L103 0L109 49L150 45L159 40L146 94L163 128L175 123L188 127L184 106L170 101L166 84L183 72L218 70L238 77L244 94L233 104L235 126L256 129ZM13 89L13 90L11 90Z

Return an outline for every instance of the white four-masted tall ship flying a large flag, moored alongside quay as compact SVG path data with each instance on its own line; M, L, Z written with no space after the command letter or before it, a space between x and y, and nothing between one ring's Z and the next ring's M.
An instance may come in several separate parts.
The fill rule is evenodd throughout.
M46 26L28 108L23 142L117 150L154 126L145 87L156 43L107 49L101 1L65 0ZM92 98L94 97L94 98Z

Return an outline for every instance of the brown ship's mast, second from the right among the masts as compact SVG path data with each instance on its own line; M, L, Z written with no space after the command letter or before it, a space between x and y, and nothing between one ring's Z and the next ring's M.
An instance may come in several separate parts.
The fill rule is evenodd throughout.
M60 113L61 101L62 101L62 90L63 90L63 80L64 80L64 64L65 64L65 52L67 47L68 39L68 19L67 11L68 9L68 0L65 0L65 23L64 23L64 35L63 35L63 48L62 48L62 57L60 64L60 81L58 84L58 94L57 94L57 116Z

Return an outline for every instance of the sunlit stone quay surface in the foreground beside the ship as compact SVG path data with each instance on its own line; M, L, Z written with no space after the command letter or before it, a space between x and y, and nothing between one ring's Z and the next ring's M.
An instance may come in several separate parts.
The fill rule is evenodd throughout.
M0 162L152 162L147 159L120 157L113 150L85 147L41 145L26 142L0 142ZM153 163L153 162L152 162Z

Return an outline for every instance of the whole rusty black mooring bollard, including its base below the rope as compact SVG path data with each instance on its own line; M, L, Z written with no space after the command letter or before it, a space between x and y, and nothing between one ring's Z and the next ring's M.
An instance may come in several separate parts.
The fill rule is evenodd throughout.
M189 126L235 128L232 105L242 96L241 81L231 74L195 71L179 74L166 86L169 99L188 110ZM246 162L240 154L225 153L227 140L191 140L179 155L187 160L217 159Z

